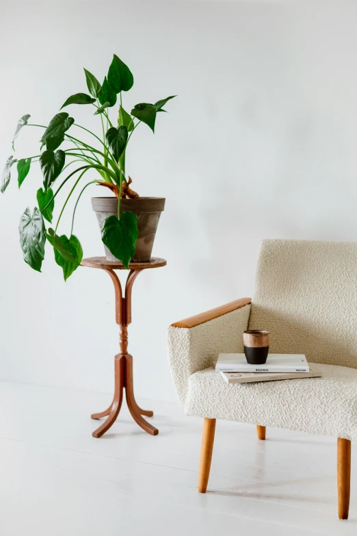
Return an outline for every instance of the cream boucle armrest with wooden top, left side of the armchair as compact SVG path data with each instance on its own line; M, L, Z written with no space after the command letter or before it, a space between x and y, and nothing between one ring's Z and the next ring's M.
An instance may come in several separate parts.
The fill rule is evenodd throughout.
M251 298L241 298L174 322L168 328L168 358L178 403L185 405L191 374L213 366L219 353L243 352Z

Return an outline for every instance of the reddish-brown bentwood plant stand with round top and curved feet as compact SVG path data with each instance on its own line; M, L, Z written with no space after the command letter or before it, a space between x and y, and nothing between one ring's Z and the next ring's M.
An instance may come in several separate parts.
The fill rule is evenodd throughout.
M101 437L114 424L122 405L124 389L127 405L135 422L151 435L157 435L159 430L143 418L143 416L153 417L153 411L140 408L135 401L133 389L133 356L128 353L128 325L131 324L131 290L135 279L143 270L166 266L166 260L152 257L148 262L131 262L129 264L129 275L125 283L124 294L122 293L120 280L116 272L114 272L114 270L125 270L125 267L120 261L107 261L105 257L90 257L89 259L83 259L81 264L89 268L101 268L101 270L107 272L111 277L116 295L116 323L120 327L120 353L114 358L114 398L111 405L105 411L92 414L92 419L107 417L105 422L92 435L93 437Z

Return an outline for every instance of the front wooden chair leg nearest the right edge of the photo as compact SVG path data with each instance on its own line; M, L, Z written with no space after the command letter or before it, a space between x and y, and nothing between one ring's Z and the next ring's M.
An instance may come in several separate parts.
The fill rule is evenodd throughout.
M339 518L348 519L349 489L351 478L351 442L337 438L337 492L339 494Z

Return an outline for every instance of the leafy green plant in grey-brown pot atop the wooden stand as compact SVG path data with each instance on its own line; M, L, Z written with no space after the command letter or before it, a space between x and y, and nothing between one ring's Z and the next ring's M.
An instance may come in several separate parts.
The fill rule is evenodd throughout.
M31 268L40 272L45 242L48 241L53 246L55 261L62 267L65 280L76 270L83 257L81 243L73 234L73 226L79 199L85 188L92 184L105 186L112 194L111 197L92 199L107 259L119 259L126 268L131 259L133 261L150 259L165 199L140 198L131 189L131 178L127 175L125 167L125 154L137 126L144 123L154 132L157 114L165 112L163 106L175 97L167 97L155 104L136 104L129 113L123 107L122 92L127 92L133 87L134 79L129 67L117 55L114 54L103 84L100 84L86 69L84 72L90 94L71 95L60 110L73 104L94 107L94 115L100 119L101 135L97 136L90 129L75 123L75 119L67 112L56 114L47 127L30 124L30 116L27 114L18 121L12 149L14 150L14 142L23 127L40 127L44 129L40 138L40 153L21 159L10 156L1 179L1 192L5 192L10 183L11 168L16 162L20 188L32 164L39 162L43 175L43 188L37 190L38 207L32 212L27 207L21 216L19 226L23 258ZM119 106L115 110L118 114L115 123L112 123L109 110L117 104L117 99ZM93 142L90 144L83 142L81 134L77 133L79 129L90 133ZM70 171L69 166L75 167L76 163L77 168ZM82 188L78 193L77 186L88 171L95 172L96 178L92 178L84 186L81 185ZM52 223L55 198L64 187L69 190L68 196L59 210L56 225L54 229L53 227L46 229L44 220ZM74 194L77 195L77 201L73 208L70 233L59 235L57 233L59 221L68 200Z

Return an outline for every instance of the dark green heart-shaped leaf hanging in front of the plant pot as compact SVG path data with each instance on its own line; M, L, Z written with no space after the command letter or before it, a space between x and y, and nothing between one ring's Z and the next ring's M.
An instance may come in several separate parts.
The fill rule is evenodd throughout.
M102 240L110 253L120 259L125 268L128 268L135 253L135 242L138 234L135 214L123 212L120 220L116 216L109 216L105 219Z

